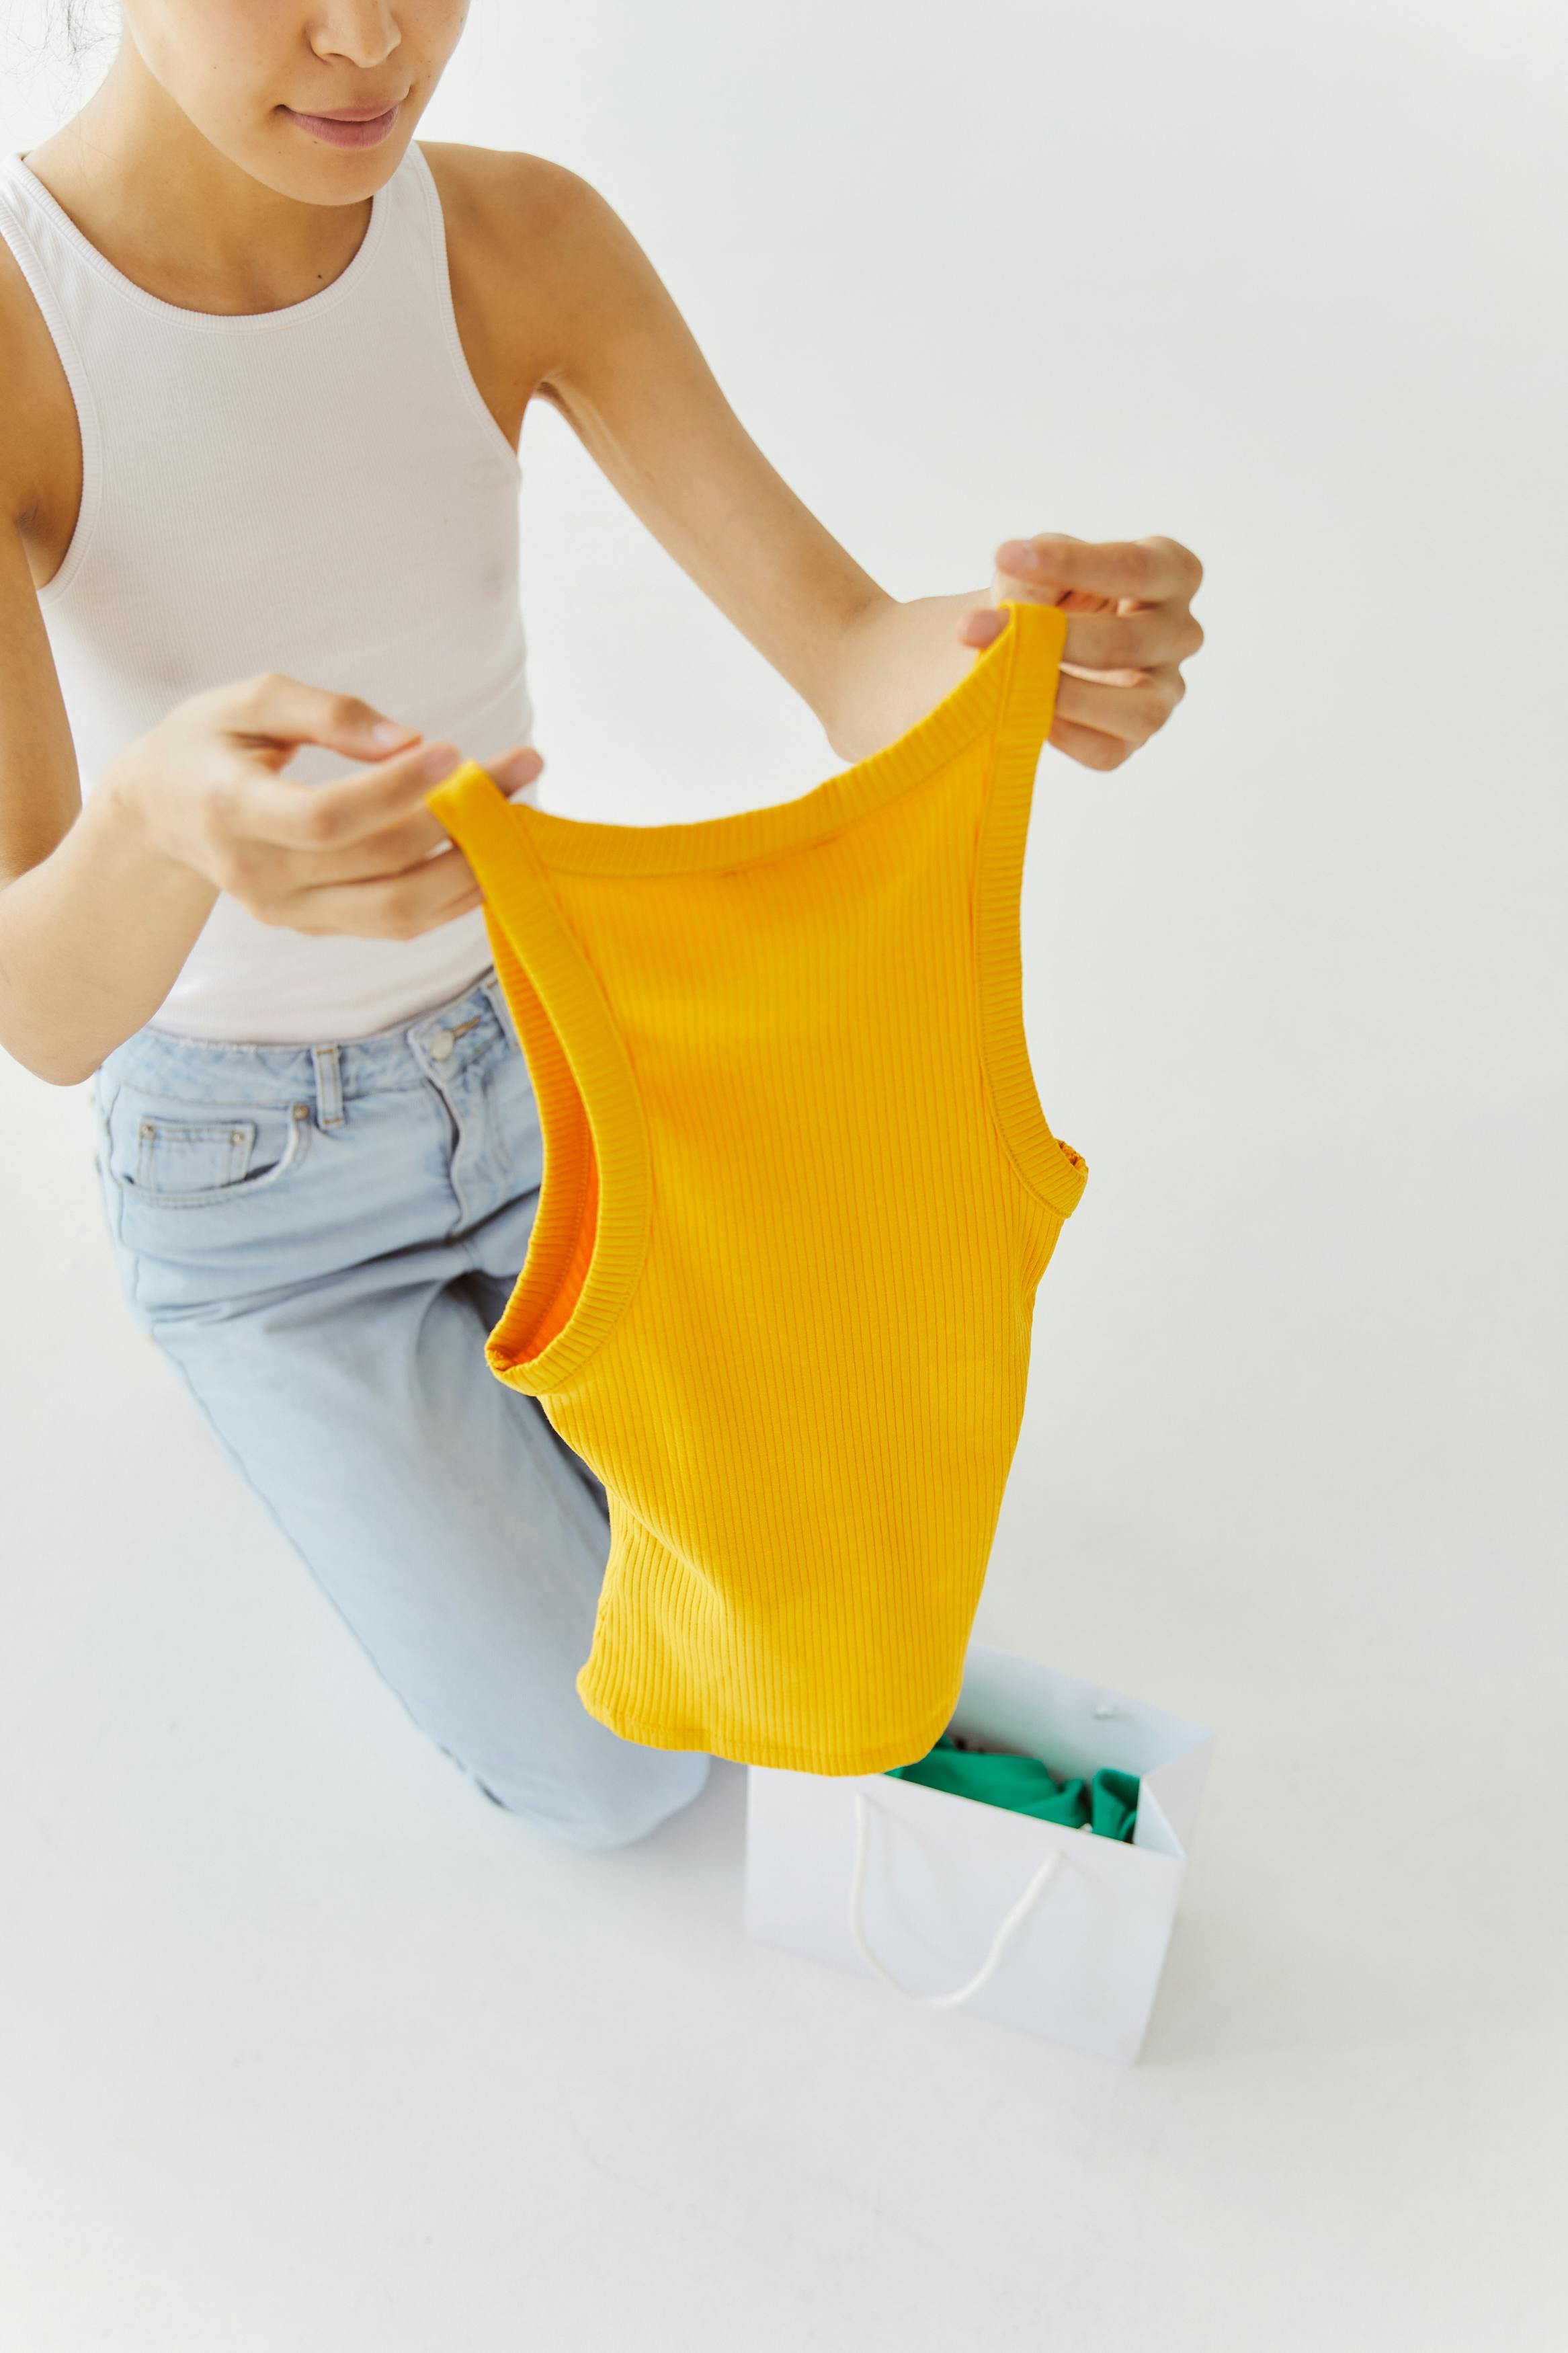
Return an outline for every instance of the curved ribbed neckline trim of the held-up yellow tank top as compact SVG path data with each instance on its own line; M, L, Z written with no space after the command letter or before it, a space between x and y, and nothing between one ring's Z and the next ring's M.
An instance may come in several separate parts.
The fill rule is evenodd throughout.
M940 704L914 720L900 736L867 753L853 767L839 769L797 800L776 800L762 809L733 816L705 816L672 826L614 826L597 819L562 816L529 800L508 800L501 786L475 760L463 760L451 776L425 795L440 816L447 802L456 812L475 802L494 802L491 814L522 831L543 868L581 875L689 875L745 866L806 842L839 833L856 816L870 814L907 786L919 784L945 760L957 758L978 734L1001 725L1013 736L1027 736L1039 715L1056 701L1056 673L1067 638L1067 614L1058 605L1004 600L1009 626L983 647L971 668Z

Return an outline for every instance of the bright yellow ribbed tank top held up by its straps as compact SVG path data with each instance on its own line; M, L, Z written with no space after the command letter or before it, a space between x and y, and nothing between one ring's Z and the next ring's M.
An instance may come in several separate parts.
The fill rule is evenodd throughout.
M545 1146L484 1353L604 1480L578 1694L632 1741L879 1772L959 1697L1086 1179L1018 939L1067 624L1001 609L952 694L799 800L604 826L470 760L428 795Z

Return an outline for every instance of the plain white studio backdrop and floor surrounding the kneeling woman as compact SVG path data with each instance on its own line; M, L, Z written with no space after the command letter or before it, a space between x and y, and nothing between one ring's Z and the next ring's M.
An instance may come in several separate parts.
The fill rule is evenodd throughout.
M1091 1186L978 1631L1215 1772L1131 2071L748 1946L738 1767L552 1847L129 1322L87 1089L5 1064L12 2344L1566 2341L1566 64L1526 0L480 0L421 134L595 181L891 593L1206 565L1168 729L1039 769ZM555 414L522 461L545 805L837 767Z

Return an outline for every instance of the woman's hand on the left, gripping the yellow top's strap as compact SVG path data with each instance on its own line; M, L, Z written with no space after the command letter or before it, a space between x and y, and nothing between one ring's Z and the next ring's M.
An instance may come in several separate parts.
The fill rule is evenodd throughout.
M292 784L280 769L301 744L374 767L334 784ZM162 856L226 889L259 922L416 939L482 896L473 866L423 807L461 758L355 694L268 671L186 696L127 744L103 786ZM531 746L484 765L503 793L543 769Z

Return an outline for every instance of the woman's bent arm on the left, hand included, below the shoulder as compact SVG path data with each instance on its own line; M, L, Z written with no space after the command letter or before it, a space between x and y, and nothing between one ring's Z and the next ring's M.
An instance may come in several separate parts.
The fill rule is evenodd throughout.
M364 765L292 784L299 744ZM353 694L266 673L174 704L82 807L21 527L0 522L0 1049L56 1087L92 1078L158 1012L221 889L261 922L367 939L470 913L480 885L425 807L456 765ZM489 772L517 791L541 765L522 746Z

